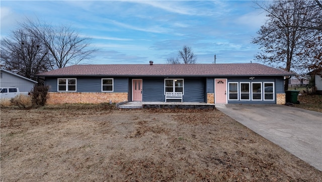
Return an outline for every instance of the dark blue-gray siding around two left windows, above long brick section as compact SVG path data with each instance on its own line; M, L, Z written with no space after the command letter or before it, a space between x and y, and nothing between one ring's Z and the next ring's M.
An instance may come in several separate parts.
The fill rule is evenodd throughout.
M105 78L105 77L104 77ZM57 78L47 78L46 85L49 86L49 92L57 92ZM102 92L102 78L84 78L76 77L77 93L100 93ZM114 92L128 92L128 78L114 78Z

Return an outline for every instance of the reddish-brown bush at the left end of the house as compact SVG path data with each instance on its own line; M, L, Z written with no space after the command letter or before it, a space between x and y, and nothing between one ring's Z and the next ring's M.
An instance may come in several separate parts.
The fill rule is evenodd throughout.
M44 106L48 99L48 86L36 86L31 92L32 105Z

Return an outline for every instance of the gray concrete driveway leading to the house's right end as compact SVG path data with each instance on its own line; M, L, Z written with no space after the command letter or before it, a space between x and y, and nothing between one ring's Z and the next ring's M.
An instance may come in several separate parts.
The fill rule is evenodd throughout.
M216 108L322 171L322 113L282 105Z

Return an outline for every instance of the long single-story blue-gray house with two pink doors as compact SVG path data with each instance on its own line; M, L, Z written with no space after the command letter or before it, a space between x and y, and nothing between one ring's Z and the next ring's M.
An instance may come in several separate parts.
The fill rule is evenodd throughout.
M201 102L285 104L284 76L258 63L72 65L37 76L48 104Z

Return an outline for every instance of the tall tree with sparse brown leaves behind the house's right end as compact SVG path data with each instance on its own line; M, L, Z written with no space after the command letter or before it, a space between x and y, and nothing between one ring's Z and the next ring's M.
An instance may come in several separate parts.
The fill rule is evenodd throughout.
M303 66L314 62L310 55L318 52L320 47L311 45L320 44L317 38L321 31L303 27L314 27L308 23L307 17L316 15L318 9L310 6L313 1L274 1L270 5L259 5L267 12L268 21L258 31L258 37L252 40L260 45L262 52L255 59L265 64L279 67L286 71L293 69L302 72ZM314 56L313 56L314 57ZM288 79L285 80L284 89L288 89Z

